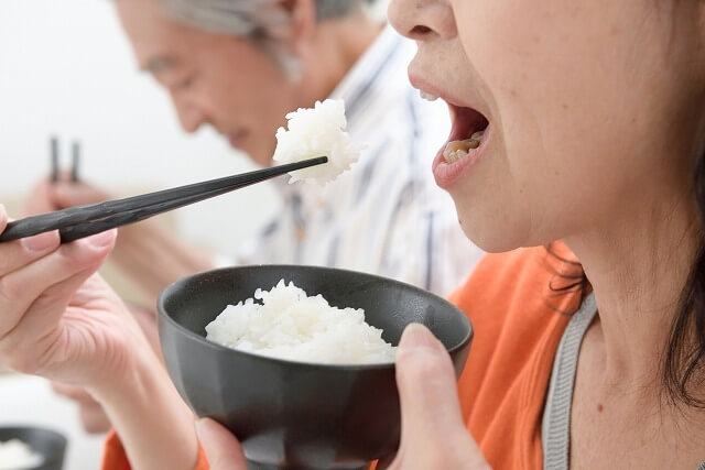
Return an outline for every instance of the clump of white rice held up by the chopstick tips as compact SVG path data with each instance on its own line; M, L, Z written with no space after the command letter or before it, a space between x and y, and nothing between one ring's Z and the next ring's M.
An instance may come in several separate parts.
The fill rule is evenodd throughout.
M290 183L300 179L325 184L350 168L360 157L359 149L345 132L345 102L341 99L316 101L314 108L300 108L286 114L289 130L276 131L274 161L294 163L327 156L328 163L291 172Z

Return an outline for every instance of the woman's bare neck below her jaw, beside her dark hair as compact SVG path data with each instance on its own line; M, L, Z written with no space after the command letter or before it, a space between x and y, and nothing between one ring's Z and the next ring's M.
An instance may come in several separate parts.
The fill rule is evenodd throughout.
M690 188L625 201L609 222L565 242L595 292L603 385L658 398L663 352L697 250L698 219Z

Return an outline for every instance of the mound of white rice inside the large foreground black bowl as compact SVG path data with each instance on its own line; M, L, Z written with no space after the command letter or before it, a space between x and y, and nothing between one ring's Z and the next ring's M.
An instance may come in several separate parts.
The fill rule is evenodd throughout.
M256 303L259 299L262 303ZM228 305L206 326L206 338L229 348L300 362L393 362L397 348L365 321L361 308L332 307L281 280L271 291Z

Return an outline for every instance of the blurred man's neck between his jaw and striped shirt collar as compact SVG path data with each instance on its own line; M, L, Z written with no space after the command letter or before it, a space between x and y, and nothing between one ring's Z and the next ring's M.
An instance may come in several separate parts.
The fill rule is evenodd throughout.
M303 53L302 107L330 96L335 87L375 42L382 24L364 12L316 26L310 47Z

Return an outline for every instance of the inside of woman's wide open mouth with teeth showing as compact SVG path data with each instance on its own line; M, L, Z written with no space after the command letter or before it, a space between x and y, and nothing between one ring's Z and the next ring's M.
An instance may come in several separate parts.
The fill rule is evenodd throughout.
M435 100L436 97L421 92L422 98ZM458 162L468 155L473 155L486 140L489 121L482 113L473 109L448 102L453 128L443 150L443 159L446 163Z

